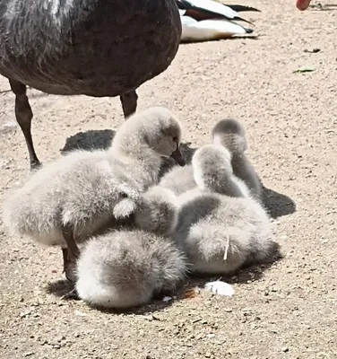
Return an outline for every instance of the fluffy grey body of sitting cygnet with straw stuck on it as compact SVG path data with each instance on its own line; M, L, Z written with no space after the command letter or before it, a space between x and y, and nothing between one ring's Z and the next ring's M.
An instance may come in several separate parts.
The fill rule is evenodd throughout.
M172 238L186 253L192 272L228 274L243 265L269 261L275 254L272 223L254 199L194 189L179 202Z

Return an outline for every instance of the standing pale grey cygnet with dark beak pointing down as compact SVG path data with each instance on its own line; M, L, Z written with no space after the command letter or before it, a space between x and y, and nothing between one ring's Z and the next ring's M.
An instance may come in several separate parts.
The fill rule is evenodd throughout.
M76 151L34 172L5 200L4 223L15 235L67 248L70 260L78 254L75 241L134 212L158 180L161 156L184 165L180 141L179 122L168 109L137 113L108 151Z

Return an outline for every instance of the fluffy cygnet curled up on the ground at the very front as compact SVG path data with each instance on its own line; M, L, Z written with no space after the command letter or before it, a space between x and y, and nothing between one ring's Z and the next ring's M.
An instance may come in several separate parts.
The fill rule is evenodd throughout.
M142 230L114 231L84 243L75 288L91 305L126 309L170 293L185 275L185 258L167 239Z

